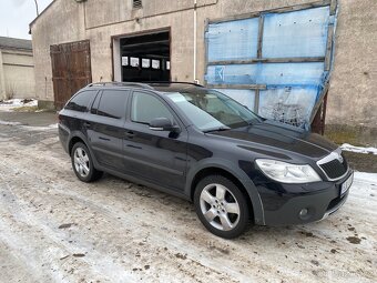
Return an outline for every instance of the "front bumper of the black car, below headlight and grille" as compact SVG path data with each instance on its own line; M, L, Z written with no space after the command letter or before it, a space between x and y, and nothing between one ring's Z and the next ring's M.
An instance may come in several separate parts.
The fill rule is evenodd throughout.
M340 195L349 172L336 182L309 184L264 183L257 185L266 225L291 225L318 221L336 212L347 200L349 189ZM300 215L302 210L307 210Z

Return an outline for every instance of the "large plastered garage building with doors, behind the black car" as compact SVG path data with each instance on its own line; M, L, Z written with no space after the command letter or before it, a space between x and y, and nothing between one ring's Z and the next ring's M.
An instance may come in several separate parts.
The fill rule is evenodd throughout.
M298 125L327 101L327 124L373 132L376 8L373 0L54 0L30 24L37 98L61 108L90 82L191 81Z

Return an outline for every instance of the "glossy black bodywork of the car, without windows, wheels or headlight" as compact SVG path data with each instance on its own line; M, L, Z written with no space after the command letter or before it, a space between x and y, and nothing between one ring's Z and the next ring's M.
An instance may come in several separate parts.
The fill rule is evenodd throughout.
M195 88L190 87L186 91ZM99 88L99 92L103 89ZM261 172L254 162L256 159L310 164L326 180L316 162L337 146L320 135L267 120L244 128L203 133L159 89L137 89L139 92L145 91L163 101L180 127L180 133L153 131L146 124L131 121L132 88L121 89L131 92L128 94L126 115L116 122L114 119L91 114L90 108L84 113L64 109L60 112L59 135L65 151L70 153L72 142L81 139L93 156L94 166L101 171L186 200L192 200L195 189L193 184L202 170L226 171L246 190L253 206L254 222L262 225L320 220L329 203L339 198L339 185L351 173L349 171L337 182L275 182ZM170 90L164 88L161 91ZM347 194L343 198L347 198ZM305 205L313 210L308 220L297 216Z

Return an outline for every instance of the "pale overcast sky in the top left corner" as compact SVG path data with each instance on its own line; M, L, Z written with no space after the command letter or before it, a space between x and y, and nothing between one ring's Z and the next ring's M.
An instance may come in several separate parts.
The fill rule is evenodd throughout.
M37 0L41 13L52 0ZM0 36L31 39L29 23L37 17L34 0L0 0Z

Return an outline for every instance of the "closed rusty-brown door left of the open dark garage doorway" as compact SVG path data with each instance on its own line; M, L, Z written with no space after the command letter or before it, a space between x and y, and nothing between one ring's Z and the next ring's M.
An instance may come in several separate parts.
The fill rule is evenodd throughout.
M92 82L88 40L51 46L54 105L61 109L78 90Z

